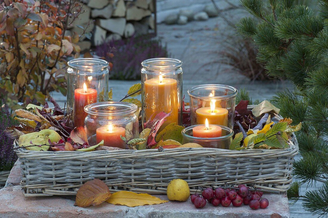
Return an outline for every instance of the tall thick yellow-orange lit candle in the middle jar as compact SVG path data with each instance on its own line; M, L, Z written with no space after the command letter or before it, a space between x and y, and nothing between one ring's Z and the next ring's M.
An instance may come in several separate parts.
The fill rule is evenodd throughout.
M159 75L159 78L149 79L144 84L145 99L144 99L144 113L146 121L159 113L164 111L165 113L171 112L171 115L166 119L160 130L165 128L170 123L178 124L178 109L179 100L177 92L177 81L171 78L163 78Z

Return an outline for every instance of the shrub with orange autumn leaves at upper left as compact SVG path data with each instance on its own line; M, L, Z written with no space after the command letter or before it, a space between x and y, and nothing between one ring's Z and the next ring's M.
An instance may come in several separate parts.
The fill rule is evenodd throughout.
M0 1L0 91L11 109L66 95L65 58L79 55L80 36L65 32L82 12L77 0Z

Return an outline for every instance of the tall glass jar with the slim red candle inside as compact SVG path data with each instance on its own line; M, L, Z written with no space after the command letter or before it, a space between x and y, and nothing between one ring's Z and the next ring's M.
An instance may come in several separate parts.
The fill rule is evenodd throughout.
M67 62L67 114L74 127L84 126L84 107L108 101L108 62L97 58L76 58Z

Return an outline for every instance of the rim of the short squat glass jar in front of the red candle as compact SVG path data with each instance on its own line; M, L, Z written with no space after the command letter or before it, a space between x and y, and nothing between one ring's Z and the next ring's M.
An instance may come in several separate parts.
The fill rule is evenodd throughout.
M113 109L113 110L99 110L98 108L104 107L116 107L121 109ZM132 114L138 109L133 103L129 102L121 102L121 101L104 101L104 102L96 102L84 107L84 111L91 115L96 116L122 116L127 114Z

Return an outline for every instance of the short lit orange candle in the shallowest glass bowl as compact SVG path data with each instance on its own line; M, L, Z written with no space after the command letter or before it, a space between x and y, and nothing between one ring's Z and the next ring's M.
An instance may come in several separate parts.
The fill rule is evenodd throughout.
M208 120L205 120L205 125L196 126L193 128L193 136L199 138L215 138L222 135L222 128L216 125L209 125Z

